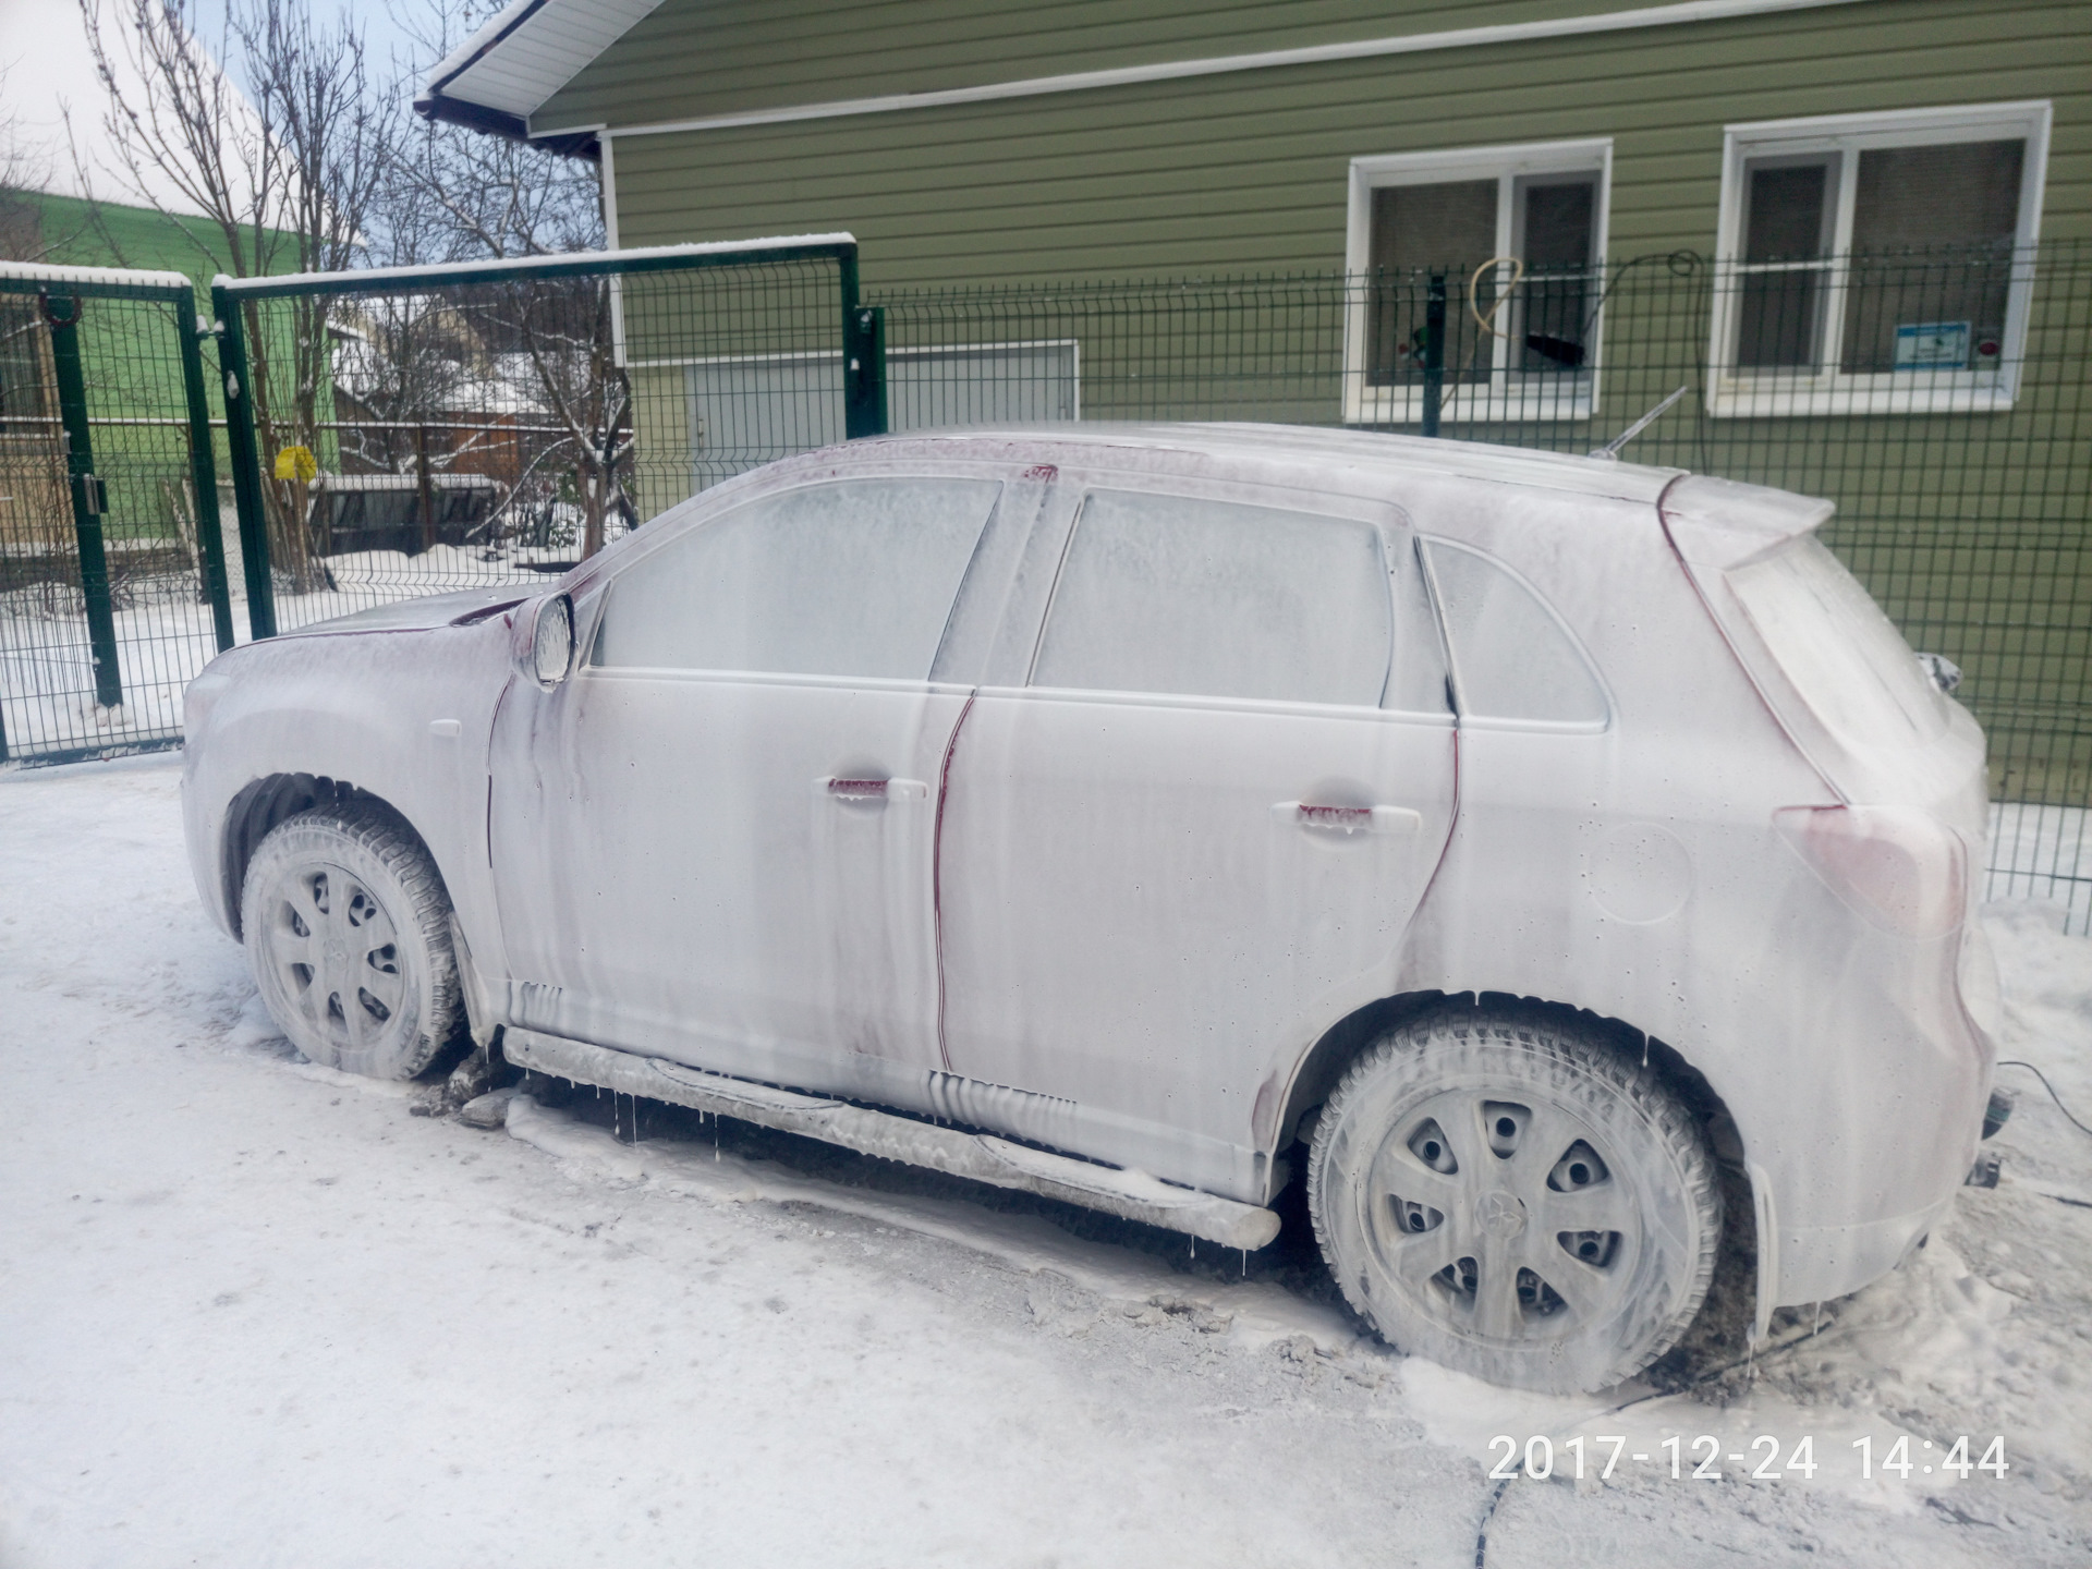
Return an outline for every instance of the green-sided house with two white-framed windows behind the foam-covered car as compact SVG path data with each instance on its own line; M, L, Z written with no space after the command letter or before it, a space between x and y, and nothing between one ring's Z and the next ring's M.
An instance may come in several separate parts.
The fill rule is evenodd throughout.
M2000 795L2088 803L2084 4L525 0L416 107L600 159L613 245L854 232L891 385L1031 356L973 416L1586 450L1686 387L1628 456L1835 496Z

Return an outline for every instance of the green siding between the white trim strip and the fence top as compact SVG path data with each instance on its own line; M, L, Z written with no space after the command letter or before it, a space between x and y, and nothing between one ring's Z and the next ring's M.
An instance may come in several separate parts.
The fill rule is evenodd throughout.
M678 67L663 54L655 75ZM1609 253L1705 251L1724 123L2015 98L2056 107L2044 234L2086 234L2092 6L1979 0L630 136L617 232L849 228L874 285L1333 270L1356 155L1611 136Z

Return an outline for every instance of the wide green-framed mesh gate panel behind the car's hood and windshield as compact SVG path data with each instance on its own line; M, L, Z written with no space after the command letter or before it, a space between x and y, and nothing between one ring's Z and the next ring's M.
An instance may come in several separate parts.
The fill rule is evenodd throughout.
M222 289L266 630L527 590L705 485L862 433L854 293L847 236Z

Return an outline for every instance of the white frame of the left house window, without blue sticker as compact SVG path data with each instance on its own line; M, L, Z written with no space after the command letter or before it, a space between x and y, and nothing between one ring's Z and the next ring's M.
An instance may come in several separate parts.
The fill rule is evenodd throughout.
M1383 186L1425 186L1452 180L1496 178L1496 253L1510 255L1517 238L1519 180L1548 174L1594 174L1592 272L1605 272L1607 224L1613 207L1613 138L1579 142L1519 142L1433 153L1381 153L1351 159L1351 201L1343 268L1349 278L1343 314L1343 418L1349 425L1414 425L1423 418L1420 387L1366 385L1366 299L1362 285L1372 270L1372 192ZM1477 257L1477 262L1487 257ZM1448 314L1466 299L1448 299ZM1592 322L1584 368L1571 374L1523 377L1510 368L1508 339L1494 339L1490 381L1446 381L1439 412L1454 420L1584 420L1598 410L1602 322ZM1569 385L1565 385L1569 383Z

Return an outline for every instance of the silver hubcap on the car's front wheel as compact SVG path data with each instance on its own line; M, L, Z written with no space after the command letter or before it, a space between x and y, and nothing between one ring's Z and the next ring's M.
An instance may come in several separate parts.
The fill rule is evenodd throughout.
M285 996L337 1048L364 1050L400 1017L406 981L391 916L339 866L301 866L270 908Z

